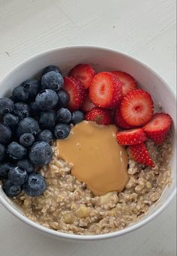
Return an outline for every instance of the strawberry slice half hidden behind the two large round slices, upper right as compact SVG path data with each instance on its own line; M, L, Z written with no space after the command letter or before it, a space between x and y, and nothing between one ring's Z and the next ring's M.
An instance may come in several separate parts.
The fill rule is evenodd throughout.
M127 95L128 92L136 89L136 80L134 80L134 78L131 77L130 74L121 71L112 71L111 73L114 74L119 81L121 81L123 96Z

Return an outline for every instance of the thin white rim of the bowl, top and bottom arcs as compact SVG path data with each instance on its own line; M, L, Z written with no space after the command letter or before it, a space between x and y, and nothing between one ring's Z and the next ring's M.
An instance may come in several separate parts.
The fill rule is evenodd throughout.
M24 64L26 64L27 62L31 62L34 61L34 59L38 59L39 57L43 56L43 55L47 55L49 53L54 53L55 51L58 50L67 50L67 49L93 49L93 50L104 50L107 52L111 52L111 53L115 53L115 54L120 54L121 56L124 56L126 58L129 58L131 60L133 60L134 62L136 62L139 65L142 65L144 68L148 68L149 71L151 71L151 73L153 73L159 80L162 81L163 86L166 87L166 89L170 92L170 94L172 95L172 97L174 97L175 101L176 101L176 95L175 95L175 90L172 89L171 86L168 85L168 83L166 83L166 80L164 80L162 77L160 77L159 74L157 74L156 71L154 71L152 68L150 68L148 65L145 64L145 62L140 61L139 59L127 54L127 53L123 53L119 50L114 50L112 48L109 47L98 47L98 46L94 46L94 45L69 45L69 46L65 46L65 47L55 47L52 48L50 50L46 50L43 51L41 53L37 53L34 56L31 56L28 59L25 59L23 62L20 62L19 65L16 65L14 68L12 68L6 75L4 78L2 78L0 80L0 86L2 83L4 83L4 81L7 79L7 77L9 77L11 74L13 74L14 71L16 71L18 68L21 68ZM169 197L167 197L167 200L163 203L160 204L160 206L158 207L158 209L156 209L154 212L152 212L149 216L147 216L145 219L140 220L138 223L133 223L130 227L126 227L122 230L117 230L114 231L112 233L105 233L105 234L98 234L98 235L77 235L77 234L71 234L71 233L62 233L60 231L56 231L56 230L52 230L49 229L47 227L43 227L40 224L37 224L37 222L31 221L29 218L27 218L25 215L23 215L23 213L20 213L17 211L17 209L14 209L13 206L7 202L7 200L5 200L5 197L2 197L0 194L0 203L5 206L5 208L11 212L14 216L16 216L17 218L19 218L21 221L25 222L26 224L28 224L30 227L34 227L37 230L42 231L42 233L46 233L48 235L52 235L55 236L57 238L62 238L62 239L68 239L68 240L76 240L76 241L96 241L96 240L101 240L101 239L109 239L109 238L114 238L116 236L121 236L124 235L126 233L130 233L133 230L137 230L139 229L139 227L144 226L145 224L147 224L149 221L153 220L157 215L160 214L160 212L163 211L163 209L166 209L166 206L169 205L169 203L172 201L173 197L175 197L176 194L176 186L175 188L173 188L173 190L171 191L171 194L169 194Z

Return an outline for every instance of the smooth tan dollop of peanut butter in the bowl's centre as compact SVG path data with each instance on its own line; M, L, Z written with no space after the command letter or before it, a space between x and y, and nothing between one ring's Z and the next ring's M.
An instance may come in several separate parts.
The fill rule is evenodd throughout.
M95 195L122 191L128 181L127 152L115 139L115 125L83 121L65 140L57 140L58 157Z

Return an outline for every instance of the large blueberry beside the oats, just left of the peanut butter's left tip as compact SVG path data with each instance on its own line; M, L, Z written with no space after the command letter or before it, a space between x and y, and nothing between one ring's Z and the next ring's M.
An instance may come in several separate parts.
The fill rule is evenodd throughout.
M52 160L52 149L49 143L39 141L31 146L29 151L31 163L37 166L49 164Z

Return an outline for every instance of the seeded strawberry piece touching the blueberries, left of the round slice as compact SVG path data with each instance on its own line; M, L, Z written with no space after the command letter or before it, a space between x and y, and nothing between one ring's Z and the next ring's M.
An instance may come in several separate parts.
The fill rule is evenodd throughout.
M86 89L83 84L74 77L64 77L63 89L70 96L68 108L72 111L78 110L86 98Z

